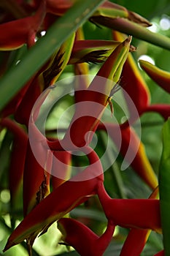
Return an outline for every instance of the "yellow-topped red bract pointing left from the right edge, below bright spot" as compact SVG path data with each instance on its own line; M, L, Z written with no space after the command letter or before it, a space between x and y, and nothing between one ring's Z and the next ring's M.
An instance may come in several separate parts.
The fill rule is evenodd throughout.
M170 72L164 71L148 61L139 60L139 64L155 83L170 93Z

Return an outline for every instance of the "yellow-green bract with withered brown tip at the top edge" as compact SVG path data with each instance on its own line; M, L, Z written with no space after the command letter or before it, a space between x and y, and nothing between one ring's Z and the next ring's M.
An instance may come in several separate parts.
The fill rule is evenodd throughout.
M98 18L127 18L128 20L132 20L135 23L139 23L142 26L151 26L152 24L143 18L141 15L131 12L127 10L125 7L122 7L119 4L114 4L110 1L104 1L104 4L101 4L101 6L98 7L98 10L94 12L92 16L93 17L98 17Z

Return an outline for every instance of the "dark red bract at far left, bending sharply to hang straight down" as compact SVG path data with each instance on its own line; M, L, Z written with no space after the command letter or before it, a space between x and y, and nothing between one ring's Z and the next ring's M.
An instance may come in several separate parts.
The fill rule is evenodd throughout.
M15 121L12 121L9 118L2 118L0 126L6 127L14 135L12 155L9 165L9 190L12 210L14 210L14 208L18 208L18 197L23 184L23 169L26 159L28 135Z

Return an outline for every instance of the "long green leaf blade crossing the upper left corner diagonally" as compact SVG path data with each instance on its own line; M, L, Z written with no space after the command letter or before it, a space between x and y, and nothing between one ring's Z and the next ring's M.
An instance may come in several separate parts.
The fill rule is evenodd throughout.
M65 15L48 29L45 37L39 39L34 47L18 65L0 80L0 109L23 87L32 75L50 58L55 50L78 29L104 0L76 1Z

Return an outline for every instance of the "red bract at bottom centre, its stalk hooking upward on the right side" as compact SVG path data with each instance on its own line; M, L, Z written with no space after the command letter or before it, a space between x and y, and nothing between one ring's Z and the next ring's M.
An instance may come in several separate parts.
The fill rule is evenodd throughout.
M107 229L101 237L81 222L70 218L59 219L58 229L63 234L63 241L73 246L80 255L101 256L112 239L115 225L108 222Z

